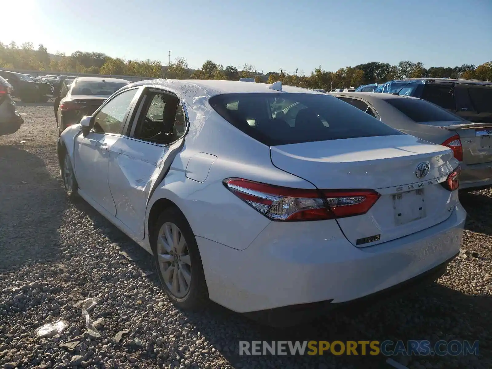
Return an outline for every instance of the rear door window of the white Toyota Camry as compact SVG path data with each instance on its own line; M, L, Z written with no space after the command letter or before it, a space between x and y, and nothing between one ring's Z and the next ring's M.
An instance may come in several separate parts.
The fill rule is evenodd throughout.
M166 92L149 92L142 104L142 113L137 118L132 137L167 145L184 135L186 117L178 96Z

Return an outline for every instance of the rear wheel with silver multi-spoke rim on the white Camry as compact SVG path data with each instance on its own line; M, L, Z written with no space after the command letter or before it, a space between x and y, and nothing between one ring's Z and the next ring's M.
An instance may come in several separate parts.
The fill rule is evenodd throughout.
M198 310L209 301L195 236L177 208L164 210L155 223L151 245L163 290L182 309Z

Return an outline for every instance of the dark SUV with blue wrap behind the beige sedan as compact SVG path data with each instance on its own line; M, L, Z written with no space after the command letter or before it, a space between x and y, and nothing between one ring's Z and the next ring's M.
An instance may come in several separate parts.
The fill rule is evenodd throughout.
M474 123L492 123L492 82L409 78L386 82L374 92L419 97Z

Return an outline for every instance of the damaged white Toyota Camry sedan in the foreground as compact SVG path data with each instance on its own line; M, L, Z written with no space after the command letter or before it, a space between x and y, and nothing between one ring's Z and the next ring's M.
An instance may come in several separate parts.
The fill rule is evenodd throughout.
M180 308L284 324L435 280L461 244L451 149L280 82L132 83L58 154L67 194L153 255Z

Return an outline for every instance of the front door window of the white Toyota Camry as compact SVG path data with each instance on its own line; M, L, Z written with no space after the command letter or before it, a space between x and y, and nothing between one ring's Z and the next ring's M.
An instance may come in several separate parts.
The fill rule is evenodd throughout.
M137 89L122 92L104 105L94 117L94 131L121 133L124 116L136 93Z

